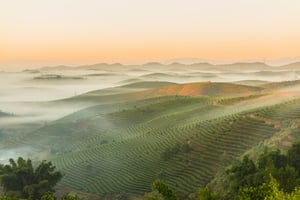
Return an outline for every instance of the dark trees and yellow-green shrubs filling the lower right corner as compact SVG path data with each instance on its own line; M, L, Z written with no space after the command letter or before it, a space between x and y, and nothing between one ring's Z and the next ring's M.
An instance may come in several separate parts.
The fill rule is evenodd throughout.
M184 197L153 193L145 196L155 199L191 200L299 200L300 199L300 143L294 144L286 154L280 150L265 151L257 161L248 156L228 168L222 180L222 189L208 186ZM159 191L159 190L156 190ZM173 194L180 194L176 191Z

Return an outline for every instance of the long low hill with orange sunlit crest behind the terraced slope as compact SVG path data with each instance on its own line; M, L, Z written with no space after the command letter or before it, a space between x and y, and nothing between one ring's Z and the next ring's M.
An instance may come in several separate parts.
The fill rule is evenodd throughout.
M150 82L134 83L134 86L150 87ZM170 85L171 84L171 85ZM145 91L105 95L105 90L91 91L79 96L69 99L61 100L61 102L98 102L98 103L119 103L132 100L141 100L160 96L211 96L211 97L229 97L229 96L243 96L251 95L261 92L264 88L246 86L233 83L214 83L214 82L200 82L188 84L175 84L169 82L152 82L151 87L156 89L147 89ZM169 85L159 87L162 85ZM132 85L127 85L127 87ZM126 87L126 86L125 86ZM59 102L59 101L58 101Z

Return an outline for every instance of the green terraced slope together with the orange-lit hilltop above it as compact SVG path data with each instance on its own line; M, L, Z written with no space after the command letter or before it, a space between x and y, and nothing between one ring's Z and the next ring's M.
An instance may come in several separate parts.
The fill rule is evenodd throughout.
M175 89L169 93L170 88ZM102 105L45 125L22 143L51 154L49 159L66 174L60 188L142 194L154 179L163 178L172 187L191 192L246 151L259 151L262 140L284 148L297 138L297 126L289 125L297 124L300 101L257 108L259 99L267 99L258 91L261 88L193 83L131 94L91 92L72 100ZM157 97L160 92L223 97ZM154 98L143 100L147 97ZM192 151L164 161L161 153L177 143L188 144Z

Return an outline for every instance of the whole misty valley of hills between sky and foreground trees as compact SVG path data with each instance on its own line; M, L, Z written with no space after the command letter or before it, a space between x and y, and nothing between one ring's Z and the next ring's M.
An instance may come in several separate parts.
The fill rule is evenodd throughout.
M51 161L64 174L58 193L89 199L142 199L157 179L182 199L225 191L245 155L299 141L299 78L300 63L1 71L0 163Z

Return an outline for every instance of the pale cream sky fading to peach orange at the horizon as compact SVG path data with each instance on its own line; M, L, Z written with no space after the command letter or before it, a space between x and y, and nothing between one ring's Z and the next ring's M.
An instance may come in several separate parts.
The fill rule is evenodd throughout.
M0 0L0 69L299 56L299 0Z

